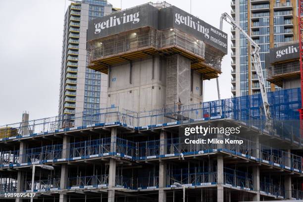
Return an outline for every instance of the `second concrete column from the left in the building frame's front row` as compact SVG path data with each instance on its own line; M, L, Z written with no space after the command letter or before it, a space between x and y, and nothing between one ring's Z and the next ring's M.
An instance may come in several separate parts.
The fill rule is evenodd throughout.
M63 145L62 145L62 158L69 157L69 143L70 137L64 135L63 136ZM66 189L68 186L68 165L62 164L61 166L61 176L60 176L60 189ZM59 202L67 202L67 195L60 194Z

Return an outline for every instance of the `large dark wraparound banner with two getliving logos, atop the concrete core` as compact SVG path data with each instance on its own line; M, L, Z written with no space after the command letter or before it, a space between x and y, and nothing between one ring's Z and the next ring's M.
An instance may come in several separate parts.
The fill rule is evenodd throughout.
M176 28L227 54L227 34L175 6L158 10L144 4L91 20L87 40L146 26L158 30Z

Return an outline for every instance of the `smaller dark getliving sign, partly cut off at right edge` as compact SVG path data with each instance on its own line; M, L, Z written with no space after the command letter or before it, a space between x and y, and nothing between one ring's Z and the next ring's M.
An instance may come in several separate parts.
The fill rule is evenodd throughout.
M299 43L270 49L270 63L299 58L299 51Z

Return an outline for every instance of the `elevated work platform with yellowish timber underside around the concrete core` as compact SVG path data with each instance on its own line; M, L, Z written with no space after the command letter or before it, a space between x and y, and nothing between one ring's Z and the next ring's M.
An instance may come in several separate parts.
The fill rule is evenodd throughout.
M139 28L114 36L105 37L98 42L92 42L98 48L89 50L89 68L102 73L108 73L109 65L129 62L131 60L159 54L170 56L181 54L191 60L191 68L203 73L204 79L217 78L221 74L220 61L215 63L218 53L208 46L205 54L205 44L196 38L178 31L169 29L159 31L151 27ZM223 57L223 54L221 55Z

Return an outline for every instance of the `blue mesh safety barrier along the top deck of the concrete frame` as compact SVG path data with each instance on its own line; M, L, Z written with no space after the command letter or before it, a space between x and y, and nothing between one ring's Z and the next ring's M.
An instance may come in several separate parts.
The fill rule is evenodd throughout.
M268 100L271 104L270 111L273 118L272 130L265 127L266 119L262 112L262 99L260 94L256 94L181 107L176 105L147 112L119 111L118 107L110 107L84 111L73 116L55 116L24 123L7 124L0 128L15 128L18 133L13 137L4 134L4 138L0 141L115 124L132 130L150 130L214 119L229 119L283 140L301 144L298 112L298 109L301 108L301 89L271 92L268 93Z

